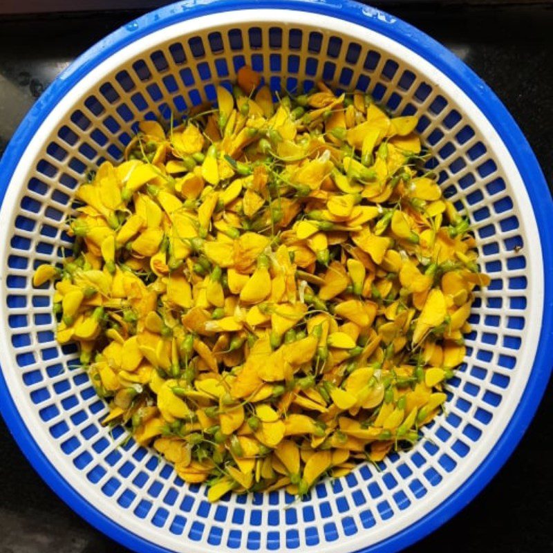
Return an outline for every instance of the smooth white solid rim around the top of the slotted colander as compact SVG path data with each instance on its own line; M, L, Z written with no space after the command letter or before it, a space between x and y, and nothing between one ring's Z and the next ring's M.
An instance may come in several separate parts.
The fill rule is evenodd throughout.
M522 335L523 346L521 350L516 353L517 371L514 371L512 374L512 380L514 382L509 385L508 397L503 398L500 407L495 412L496 415L494 415L493 421L486 427L486 438L472 444L468 458L465 459L453 473L445 476L444 482L438 487L440 490L439 493L437 493L437 489L430 489L429 493L424 497L424 500L414 503L403 512L395 514L395 516L385 523L379 523L370 530L364 530L361 527L359 532L353 536L341 535L337 542L328 543L322 541L316 546L316 549L321 553L352 552L361 547L375 544L385 538L393 536L402 529L406 529L409 525L419 521L420 518L431 512L432 509L438 507L445 498L452 494L453 491L458 489L458 487L469 478L478 465L480 465L480 462L482 462L493 449L494 444L496 444L498 438L503 433L512 413L516 409L525 389L538 344L543 306L543 263L541 257L541 242L537 232L532 205L527 196L521 175L498 133L496 133L480 109L478 109L469 97L467 97L449 77L443 75L438 69L433 67L419 55L388 37L384 37L377 32L347 21L341 21L339 19L333 19L310 12L292 10L241 10L225 12L224 14L207 15L205 17L199 17L198 19L192 19L191 21L182 21L178 24L153 32L151 35L147 35L142 39L138 39L133 44L114 53L109 59L106 59L100 66L97 66L97 68L91 71L91 73L83 77L82 80L68 92L59 104L55 106L55 109L48 115L46 120L44 120L39 131L35 133L35 136L28 144L24 156L22 156L23 161L17 166L12 180L10 181L0 217L1 221L3 221L3 225L6 225L5 228L13 227L21 197L24 195L26 184L32 168L34 167L31 161L39 159L39 156L43 153L44 144L48 143L50 136L53 135L55 129L59 126L59 122L66 117L66 114L71 113L75 105L84 100L86 93L93 88L95 84L102 82L102 79L104 79L106 75L110 75L117 68L124 67L126 61L136 57L138 53L149 51L151 48L155 48L157 44L167 43L167 41L171 39L193 35L200 30L216 30L221 24L221 21L224 21L225 26L227 24L236 24L240 26L241 24L264 24L277 21L278 25L281 26L289 25L301 28L302 25L305 25L310 28L318 27L321 30L330 30L334 35L349 37L358 42L365 41L371 44L373 48L391 53L394 57L402 59L407 64L411 64L411 66L418 68L419 73L440 88L445 97L455 98L457 104L461 106L463 110L462 115L468 116L469 120L474 124L474 128L480 133L480 137L485 140L489 156L498 163L498 169L505 175L507 190L512 198L516 200L514 201L513 211L518 215L521 223L518 233L524 236L525 246L527 248L532 248L532 254L529 253L529 249L526 250L526 276L528 279L528 287L525 293L527 294L528 304L525 315L529 314L530 316L527 317ZM4 236L10 236L10 234L6 233ZM20 254L20 252L18 253ZM0 244L0 259L2 260L3 272L1 277L3 279L6 278L6 273L8 272L7 260L9 254L10 244L5 239ZM29 274L31 274L31 272L32 268L29 268ZM25 293L25 290L21 290L20 292ZM27 290L27 293L30 292ZM5 287L3 288L3 295L3 305L6 306ZM55 469L57 469L59 474L63 475L68 484L106 517L152 543L179 552L189 551L190 547L197 551L212 553L220 552L221 550L232 551L232 549L227 548L225 543L221 543L221 545L217 547L209 545L206 541L208 532L204 532L201 541L190 542L185 536L176 536L162 529L156 529L156 527L150 523L140 520L133 515L130 509L123 509L120 507L115 501L115 496L107 498L99 487L88 482L84 476L84 472L75 469L71 463L71 458L64 455L59 450L59 443L50 438L48 433L36 432L33 430L44 428L44 423L39 418L36 406L30 401L28 391L26 391L24 386L21 386L21 376L16 371L10 370L16 363L10 344L10 327L8 326L9 311L9 308L4 308L3 310L1 319L2 332L0 333L3 371L6 382L8 383L8 388L26 427L29 429L39 448L43 451L46 458L50 460ZM503 416L498 416L501 414L503 414ZM233 500L231 500L231 503L227 503L229 509L232 509L232 503ZM312 500L312 503L317 503L317 499ZM250 499L244 505L240 505L240 507L247 509L248 505L251 505ZM256 506L256 509L265 510L274 509L276 507L275 505L267 505L266 502L264 502L263 505ZM279 507L281 507L280 504ZM364 508L366 508L366 506L364 506ZM353 510L355 509L357 509L357 507L353 506ZM231 525L232 523L229 521L229 518L230 517L227 516L224 522L217 522L216 524L223 528L227 525ZM211 513L203 522L209 527L209 523L212 520ZM284 523L283 518L281 518L281 521L282 526ZM327 521L328 519L324 522ZM317 518L311 524L317 525ZM243 531L247 531L247 529L247 524L245 524ZM254 529L261 530L261 527L255 527ZM278 530L279 528L274 527L272 529ZM339 529L339 532L341 533L341 529ZM303 539L301 543L303 543ZM300 548L302 547L306 546L300 545ZM286 549L281 536L281 550ZM263 532L260 550L265 550Z

